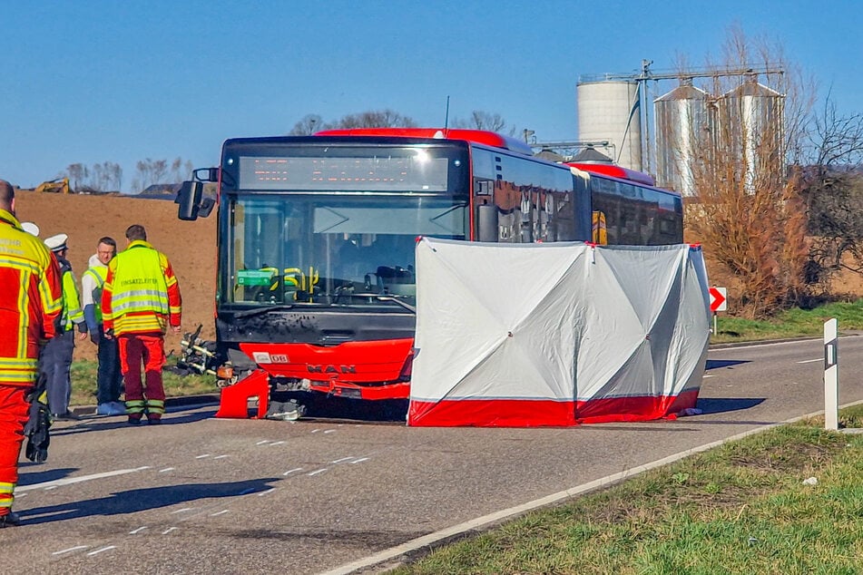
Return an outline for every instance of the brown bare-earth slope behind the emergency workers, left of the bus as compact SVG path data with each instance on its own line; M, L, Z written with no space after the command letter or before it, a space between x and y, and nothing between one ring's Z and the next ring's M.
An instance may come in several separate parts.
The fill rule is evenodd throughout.
M170 200L143 200L129 196L51 194L18 191L15 211L19 219L34 221L45 239L54 234L69 236L69 261L75 278L87 269L87 262L103 236L125 247L124 233L132 224L147 229L147 239L171 260L180 281L183 330L203 324L201 334L215 336L213 309L216 281L216 219L181 221L177 205ZM95 358L89 340L77 342L75 358ZM180 336L169 334L165 350L180 350Z

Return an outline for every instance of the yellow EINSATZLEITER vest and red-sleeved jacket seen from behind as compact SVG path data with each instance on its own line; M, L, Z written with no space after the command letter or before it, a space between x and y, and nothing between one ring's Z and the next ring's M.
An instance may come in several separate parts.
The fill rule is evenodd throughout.
M137 239L108 263L102 291L104 328L114 335L166 331L181 324L180 284L171 263Z

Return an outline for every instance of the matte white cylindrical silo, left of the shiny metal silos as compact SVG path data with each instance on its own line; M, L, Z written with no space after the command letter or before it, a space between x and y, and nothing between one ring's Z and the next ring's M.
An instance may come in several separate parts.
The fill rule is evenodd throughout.
M642 171L642 120L634 80L579 79L575 87L579 141L609 141L608 155Z

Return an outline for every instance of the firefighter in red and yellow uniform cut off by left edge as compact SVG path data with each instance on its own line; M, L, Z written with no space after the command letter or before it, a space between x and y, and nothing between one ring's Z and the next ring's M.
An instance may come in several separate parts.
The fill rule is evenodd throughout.
M18 455L38 373L39 346L60 315L60 270L42 241L15 219L15 190L0 180L0 528L12 512Z

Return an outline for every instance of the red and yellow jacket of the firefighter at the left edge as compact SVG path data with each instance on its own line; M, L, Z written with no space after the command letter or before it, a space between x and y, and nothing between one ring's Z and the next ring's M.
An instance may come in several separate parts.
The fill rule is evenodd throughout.
M39 345L60 315L60 268L42 240L0 210L0 382L32 385Z

